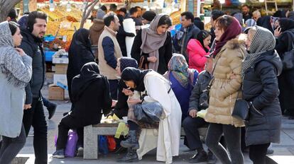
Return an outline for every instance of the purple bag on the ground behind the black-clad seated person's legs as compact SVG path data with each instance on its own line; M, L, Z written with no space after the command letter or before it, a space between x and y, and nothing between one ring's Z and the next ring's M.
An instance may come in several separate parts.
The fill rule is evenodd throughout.
M57 143L57 136L55 135L55 146ZM77 131L70 129L68 131L68 136L67 136L67 143L65 146L65 156L66 157L75 157L75 149L77 147Z

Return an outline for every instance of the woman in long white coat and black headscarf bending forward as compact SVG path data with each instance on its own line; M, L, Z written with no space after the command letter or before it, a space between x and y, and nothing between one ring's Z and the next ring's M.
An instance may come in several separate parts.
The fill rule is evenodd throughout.
M158 127L158 136L154 136L153 134L153 136L141 138L141 133L140 140L143 139L143 144L137 150L138 158L141 159L143 154L157 147L156 160L172 163L173 156L178 156L179 154L182 112L175 93L170 88L170 82L156 73L156 71L141 71L134 68L124 69L121 74L121 79L129 88L133 88L138 92L146 91L147 95L143 98L144 101L153 100L159 102L163 107L163 115L160 117ZM132 100L131 102L134 105L141 101ZM128 144L131 148L136 149L138 148L138 140L136 139L138 124L132 120L129 120L128 124L130 137L126 141L121 141L123 143L121 146Z

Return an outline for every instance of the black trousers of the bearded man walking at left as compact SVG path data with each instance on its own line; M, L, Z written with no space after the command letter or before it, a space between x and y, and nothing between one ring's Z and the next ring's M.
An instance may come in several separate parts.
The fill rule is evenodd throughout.
M23 127L26 136L33 127L33 148L35 151L35 164L47 164L47 122L41 98L33 98L32 108L23 110Z

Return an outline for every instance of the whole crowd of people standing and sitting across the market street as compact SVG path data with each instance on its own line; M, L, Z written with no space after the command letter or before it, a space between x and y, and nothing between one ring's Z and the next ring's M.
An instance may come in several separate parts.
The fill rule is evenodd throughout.
M261 17L246 5L241 11L232 16L212 11L210 32L191 12L183 12L182 28L173 36L165 14L141 14L138 6L128 14L114 4L93 11L92 27L80 28L72 37L67 68L72 107L58 125L53 157L65 158L70 129L77 130L81 153L83 127L115 114L128 117L129 126L128 138L116 140L117 148L127 149L119 163L137 162L153 148L156 160L173 163L173 156L180 156L181 127L184 144L195 151L189 163L218 159L241 164L246 149L254 164L272 162L266 154L271 143L280 142L282 115L294 118L294 69L282 63L285 52L294 48L294 14ZM136 33L124 31L125 18L134 20ZM11 16L0 23L0 164L13 160L31 127L35 163L48 163L45 98L40 93L47 15L33 11L23 19L21 26ZM131 57L126 57L125 37L134 37ZM92 45L98 49L93 51ZM248 104L246 119L232 116L238 99ZM56 105L50 106L51 118ZM138 111L148 107L159 114L139 117ZM197 117L204 111L205 117ZM205 126L208 153L197 131Z

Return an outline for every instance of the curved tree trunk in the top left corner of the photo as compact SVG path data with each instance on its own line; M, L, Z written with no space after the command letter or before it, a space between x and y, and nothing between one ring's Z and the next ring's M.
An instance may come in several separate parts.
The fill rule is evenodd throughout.
M0 22L6 21L11 8L16 6L21 0L0 0Z

